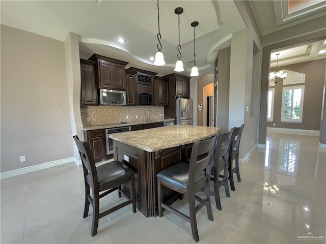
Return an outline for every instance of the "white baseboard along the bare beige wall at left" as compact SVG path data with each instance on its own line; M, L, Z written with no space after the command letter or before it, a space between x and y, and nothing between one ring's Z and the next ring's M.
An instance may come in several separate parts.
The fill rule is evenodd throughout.
M55 167L55 166L62 165L62 164L68 164L71 162L75 162L74 157L59 159L59 160L55 160L55 161L51 161L51 162L47 162L47 163L43 163L43 164L37 164L37 165L20 168L20 169L14 169L11 171L0 173L0 179L6 179L6 178L21 175L21 174L38 171L41 169L47 169L47 168Z

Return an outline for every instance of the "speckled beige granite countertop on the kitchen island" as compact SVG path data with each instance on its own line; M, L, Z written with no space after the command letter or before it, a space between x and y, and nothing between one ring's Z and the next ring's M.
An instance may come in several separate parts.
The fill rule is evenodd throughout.
M141 131L110 134L109 137L145 151L157 151L209 138L220 128L174 125Z

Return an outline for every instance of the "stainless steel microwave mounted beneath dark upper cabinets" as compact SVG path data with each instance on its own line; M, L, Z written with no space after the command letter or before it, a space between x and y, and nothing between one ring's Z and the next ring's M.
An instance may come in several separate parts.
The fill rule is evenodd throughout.
M100 89L101 105L126 105L126 92L124 90Z

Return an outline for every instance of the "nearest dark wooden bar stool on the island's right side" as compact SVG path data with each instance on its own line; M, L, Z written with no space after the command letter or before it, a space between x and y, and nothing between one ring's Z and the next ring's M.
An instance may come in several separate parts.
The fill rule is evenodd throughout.
M191 223L193 238L199 241L196 213L203 206L206 206L208 219L213 221L213 214L210 203L210 172L213 151L216 145L216 135L193 144L190 162L178 162L164 170L158 172L157 176L157 197L158 216L162 217L162 208L173 212L173 214ZM198 155L207 153L203 159L198 159ZM186 216L177 209L163 202L162 186L168 187L178 193L188 194L189 215ZM202 188L205 188L205 197L196 195ZM199 201L196 206L195 200Z

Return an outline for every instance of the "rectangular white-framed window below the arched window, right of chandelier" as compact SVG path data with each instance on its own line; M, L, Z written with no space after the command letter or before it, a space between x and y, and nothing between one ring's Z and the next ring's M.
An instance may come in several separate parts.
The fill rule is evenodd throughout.
M281 122L302 122L304 93L304 85L283 87Z

